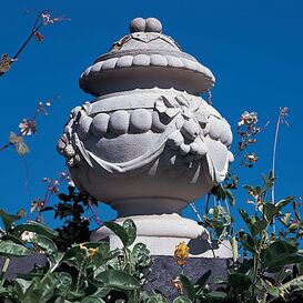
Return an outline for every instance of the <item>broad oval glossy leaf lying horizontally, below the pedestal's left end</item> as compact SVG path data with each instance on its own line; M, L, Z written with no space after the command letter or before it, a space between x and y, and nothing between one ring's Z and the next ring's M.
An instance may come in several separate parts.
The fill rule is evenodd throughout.
M132 291L140 289L139 281L119 270L107 270L95 276L95 280L101 283L101 286L111 287L117 290Z

